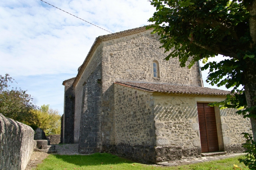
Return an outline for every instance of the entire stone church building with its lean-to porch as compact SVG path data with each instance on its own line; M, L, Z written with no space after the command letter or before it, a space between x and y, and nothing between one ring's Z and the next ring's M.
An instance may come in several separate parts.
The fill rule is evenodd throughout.
M250 121L209 107L230 93L204 88L199 63L163 60L145 27L96 38L78 75L65 80L61 142L79 153L115 151L150 162L201 152L242 152Z

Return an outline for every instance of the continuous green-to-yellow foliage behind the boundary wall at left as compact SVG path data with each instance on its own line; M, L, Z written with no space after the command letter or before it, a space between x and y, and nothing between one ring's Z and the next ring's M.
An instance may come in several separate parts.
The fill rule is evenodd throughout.
M32 103L33 98L27 90L11 88L9 83L15 80L6 74L0 75L0 113L5 117L31 126L41 128L46 135L60 134L61 116L58 110L43 105L38 108Z

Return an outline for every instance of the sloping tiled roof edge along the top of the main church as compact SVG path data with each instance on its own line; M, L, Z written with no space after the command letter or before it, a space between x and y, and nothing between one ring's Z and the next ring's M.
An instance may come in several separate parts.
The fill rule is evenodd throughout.
M153 28L150 28L150 29L153 29ZM78 82L78 80L80 79L80 77L81 77L83 71L85 70L90 58L92 57L93 53L95 52L95 50L97 49L97 47L100 45L100 43L102 41L108 41L108 40L112 40L112 39L122 38L124 36L128 36L128 35L143 32L145 30L146 30L146 26L143 26L143 27L124 30L124 31L121 31L121 32L116 32L116 33L113 33L113 34L98 36L95 39L95 41L93 43L93 46L90 48L89 53L87 54L87 56L85 58L85 61L83 61L83 64L80 66L81 68L79 69L78 74L75 77L75 81L73 82L73 86L75 86L76 83Z

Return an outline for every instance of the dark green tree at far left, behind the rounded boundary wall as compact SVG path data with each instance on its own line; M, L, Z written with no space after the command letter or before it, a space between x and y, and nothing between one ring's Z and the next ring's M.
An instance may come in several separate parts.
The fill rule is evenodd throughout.
M9 83L15 81L9 74L0 75L0 113L15 121L24 122L31 120L31 110L37 109L32 103L33 98L27 90L10 88Z

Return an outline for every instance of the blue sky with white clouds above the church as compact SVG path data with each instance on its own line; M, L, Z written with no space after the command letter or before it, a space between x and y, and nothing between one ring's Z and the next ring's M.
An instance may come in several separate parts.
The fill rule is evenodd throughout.
M110 32L148 25L155 12L147 0L45 1ZM37 106L63 114L63 80L76 76L95 38L106 34L40 0L0 1L0 75L10 74Z

